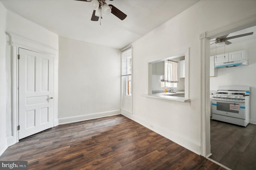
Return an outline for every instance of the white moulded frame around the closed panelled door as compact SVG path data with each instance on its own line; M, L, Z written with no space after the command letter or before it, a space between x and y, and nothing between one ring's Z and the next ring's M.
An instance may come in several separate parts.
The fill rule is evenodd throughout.
M6 49L9 49L8 51L9 56L11 58L11 80L12 80L12 94L11 94L11 103L12 103L12 136L8 137L8 146L15 144L16 142L19 142L19 135L18 135L18 125L19 125L19 108L18 108L18 102L19 102L19 93L18 93L18 83L19 83L19 60L18 60L18 50L19 48L28 49L31 51L35 51L38 53L43 53L46 55L50 55L54 57L54 67L56 63L56 59L58 60L58 49L55 49L54 47L51 47L49 45L19 36L17 34L13 33L7 33L6 32L6 40L7 45L9 46ZM57 53L57 55L56 55ZM58 61L57 61L58 63ZM54 75L55 75L55 68L54 69ZM58 77L54 76L54 126L58 125L58 110L56 111L55 107L58 107L58 89L55 87L55 79ZM58 81L58 80L57 80ZM55 93L55 91L57 93ZM56 121L57 120L57 121Z

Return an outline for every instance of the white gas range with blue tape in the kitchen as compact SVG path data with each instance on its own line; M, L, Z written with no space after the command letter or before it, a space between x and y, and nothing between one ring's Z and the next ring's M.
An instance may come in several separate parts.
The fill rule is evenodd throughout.
M212 119L246 127L250 123L250 87L220 86L212 93Z

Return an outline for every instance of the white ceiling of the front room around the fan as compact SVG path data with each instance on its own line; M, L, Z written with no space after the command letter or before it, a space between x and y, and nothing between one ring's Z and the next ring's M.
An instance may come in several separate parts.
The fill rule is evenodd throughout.
M1 0L4 6L58 34L84 42L122 49L180 14L199 0L106 0L127 17L113 14L90 21L90 2L76 0Z

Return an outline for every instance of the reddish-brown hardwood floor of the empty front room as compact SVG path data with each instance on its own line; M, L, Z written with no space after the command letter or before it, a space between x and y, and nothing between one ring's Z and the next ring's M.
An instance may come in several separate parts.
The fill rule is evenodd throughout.
M8 147L0 160L28 161L30 170L224 170L122 115L28 136Z

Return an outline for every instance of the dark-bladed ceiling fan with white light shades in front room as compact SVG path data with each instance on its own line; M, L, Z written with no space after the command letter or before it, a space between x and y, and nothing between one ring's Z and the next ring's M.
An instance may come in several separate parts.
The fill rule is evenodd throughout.
M120 20L124 20L127 16L122 11L118 10L114 5L106 4L106 0L78 0L78 1L91 3L92 9L93 9L91 21L98 21L99 18L102 19L102 12L104 12L104 14L112 13Z

